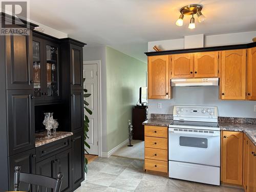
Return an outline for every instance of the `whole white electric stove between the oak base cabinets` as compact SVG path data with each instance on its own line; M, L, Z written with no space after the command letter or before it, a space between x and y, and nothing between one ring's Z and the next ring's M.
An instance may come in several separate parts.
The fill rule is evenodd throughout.
M220 185L217 106L174 106L169 124L169 177Z

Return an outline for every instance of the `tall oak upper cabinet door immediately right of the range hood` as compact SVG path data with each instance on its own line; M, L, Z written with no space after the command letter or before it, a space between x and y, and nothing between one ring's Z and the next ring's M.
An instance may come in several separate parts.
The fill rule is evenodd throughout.
M245 100L246 49L221 51L221 99Z

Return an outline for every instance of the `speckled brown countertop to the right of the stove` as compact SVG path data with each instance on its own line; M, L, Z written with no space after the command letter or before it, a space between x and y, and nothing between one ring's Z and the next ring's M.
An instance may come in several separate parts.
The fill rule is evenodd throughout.
M244 132L245 135L256 145L256 124L219 122L223 131Z

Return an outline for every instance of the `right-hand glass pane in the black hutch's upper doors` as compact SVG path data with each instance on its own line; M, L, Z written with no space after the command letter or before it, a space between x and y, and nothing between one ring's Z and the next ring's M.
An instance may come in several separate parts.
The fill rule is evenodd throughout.
M47 45L47 96L59 96L58 90L58 48Z

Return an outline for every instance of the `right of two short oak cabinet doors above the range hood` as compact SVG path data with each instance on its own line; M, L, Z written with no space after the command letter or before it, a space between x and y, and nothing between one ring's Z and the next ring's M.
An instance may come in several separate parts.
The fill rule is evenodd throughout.
M194 53L194 77L218 77L218 51Z

